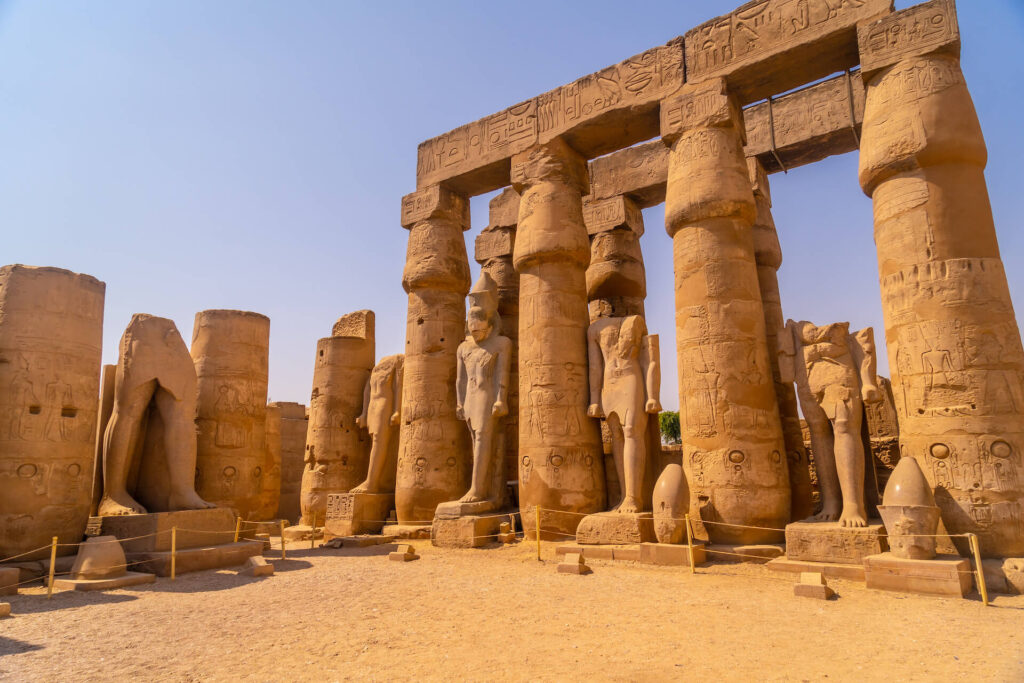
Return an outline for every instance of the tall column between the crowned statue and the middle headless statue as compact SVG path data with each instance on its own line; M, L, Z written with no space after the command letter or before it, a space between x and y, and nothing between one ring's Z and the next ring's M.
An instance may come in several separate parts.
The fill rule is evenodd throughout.
M587 417L587 162L561 139L512 158L522 196L519 272L519 507L527 535L561 541L605 507L597 424ZM550 512L558 511L558 512ZM564 513L564 514L563 514ZM536 537L535 537L536 538Z

